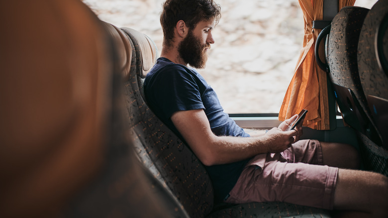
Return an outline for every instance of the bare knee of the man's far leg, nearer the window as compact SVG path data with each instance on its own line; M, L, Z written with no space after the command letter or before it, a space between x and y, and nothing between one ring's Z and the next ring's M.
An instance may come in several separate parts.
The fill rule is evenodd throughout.
M323 165L344 169L359 169L359 154L352 145L329 142L320 142L320 144Z

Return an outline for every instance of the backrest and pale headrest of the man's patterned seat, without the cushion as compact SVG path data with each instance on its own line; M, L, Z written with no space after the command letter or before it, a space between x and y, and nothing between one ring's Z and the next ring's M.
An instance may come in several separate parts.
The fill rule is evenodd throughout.
M129 134L141 162L171 190L190 217L203 217L213 208L210 179L193 152L148 108L142 97L142 78L156 61L156 50L146 35L129 28L133 55L124 84ZM152 50L154 49L154 50Z

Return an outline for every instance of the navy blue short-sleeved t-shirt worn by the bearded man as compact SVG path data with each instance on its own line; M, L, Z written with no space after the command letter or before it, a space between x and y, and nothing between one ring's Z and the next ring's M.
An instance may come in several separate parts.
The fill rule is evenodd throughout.
M192 109L204 110L215 135L250 136L223 111L216 93L201 75L167 58L159 58L147 74L144 93L149 107L182 140L171 116L176 111ZM247 162L205 166L216 202L221 202L233 188Z

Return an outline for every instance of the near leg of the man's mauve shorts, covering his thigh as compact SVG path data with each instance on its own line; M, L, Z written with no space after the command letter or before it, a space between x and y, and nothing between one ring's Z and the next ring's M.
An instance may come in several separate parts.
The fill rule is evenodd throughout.
M288 202L333 208L338 168L288 163L277 158L279 154L268 154L263 168L245 168L226 202Z

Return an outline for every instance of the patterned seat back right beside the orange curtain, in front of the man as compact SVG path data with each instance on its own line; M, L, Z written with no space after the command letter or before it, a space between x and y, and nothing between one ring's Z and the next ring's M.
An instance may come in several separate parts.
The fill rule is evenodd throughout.
M326 42L328 76L344 121L377 144L381 136L372 120L357 66L361 27L369 9L346 6L333 18ZM325 34L322 31L321 34Z

